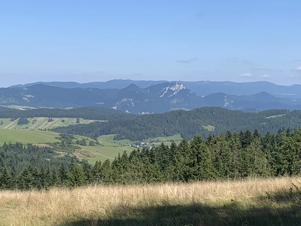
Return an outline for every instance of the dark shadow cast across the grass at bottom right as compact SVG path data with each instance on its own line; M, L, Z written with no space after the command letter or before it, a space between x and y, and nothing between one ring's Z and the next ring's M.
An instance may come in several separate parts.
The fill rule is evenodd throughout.
M107 219L82 219L61 226L299 226L301 225L301 192L296 190L266 194L241 206L235 200L219 207L193 204L190 206L156 206L114 209ZM251 200L250 200L251 202Z

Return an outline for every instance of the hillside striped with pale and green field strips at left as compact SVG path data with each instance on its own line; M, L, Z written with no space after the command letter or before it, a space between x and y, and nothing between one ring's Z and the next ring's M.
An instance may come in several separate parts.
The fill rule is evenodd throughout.
M49 118L45 117L34 117L34 118L27 118L29 121L26 125L17 125L18 119L15 121L11 121L10 118L0 118L0 122L2 121L3 124L0 125L0 129L48 129L48 128L54 128L54 127L60 127L60 126L68 126L71 124L77 124L76 118L52 118L52 122L48 122ZM65 122L62 122L62 120L65 120ZM98 120L88 120L88 119L82 119L80 118L80 124L88 124L93 121Z

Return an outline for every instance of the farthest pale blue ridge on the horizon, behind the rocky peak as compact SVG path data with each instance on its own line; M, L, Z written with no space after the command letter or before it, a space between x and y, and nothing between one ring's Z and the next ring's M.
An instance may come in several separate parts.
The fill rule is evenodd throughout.
M144 81L144 80L110 80L107 82L90 82L90 83L76 83L76 82L37 82L25 85L14 85L12 87L27 87L36 84L44 84L49 86L57 86L61 88L99 88L99 89L123 89L130 84L135 84L144 89L152 85L160 83L170 83L173 81ZM301 85L281 86L271 82L244 82L236 83L230 81L212 82L212 81L176 81L183 83L186 89L190 89L198 96L207 96L213 93L227 93L229 95L253 95L260 92L266 92L276 97L291 97L301 98Z

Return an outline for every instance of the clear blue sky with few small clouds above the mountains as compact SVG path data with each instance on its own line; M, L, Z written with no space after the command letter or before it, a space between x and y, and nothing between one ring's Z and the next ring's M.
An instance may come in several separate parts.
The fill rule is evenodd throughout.
M301 1L0 1L0 86L301 83Z

